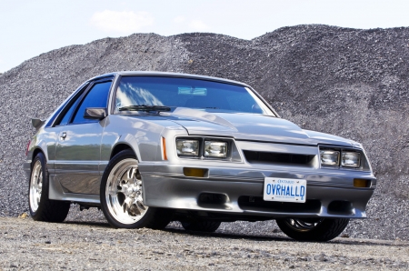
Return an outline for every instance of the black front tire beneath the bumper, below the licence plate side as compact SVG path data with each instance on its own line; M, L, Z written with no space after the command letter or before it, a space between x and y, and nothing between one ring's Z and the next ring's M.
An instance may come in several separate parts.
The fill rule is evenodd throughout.
M325 242L339 236L349 218L284 218L276 222L285 235L295 240Z

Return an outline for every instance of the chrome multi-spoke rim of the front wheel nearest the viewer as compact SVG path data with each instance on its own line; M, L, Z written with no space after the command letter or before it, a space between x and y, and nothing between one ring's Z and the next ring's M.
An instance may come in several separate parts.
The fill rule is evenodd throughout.
M122 224L130 225L145 216L142 180L137 161L121 160L109 173L105 186L105 201L109 213Z

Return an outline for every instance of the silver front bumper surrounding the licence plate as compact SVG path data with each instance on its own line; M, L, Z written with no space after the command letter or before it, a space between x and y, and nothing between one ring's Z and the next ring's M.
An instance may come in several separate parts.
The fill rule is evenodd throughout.
M139 164L145 205L218 216L364 218L376 186L371 172L358 170L201 166L208 170L208 176L201 178L185 176L184 167ZM306 179L306 202L264 201L264 177ZM354 187L354 178L370 180L371 186Z

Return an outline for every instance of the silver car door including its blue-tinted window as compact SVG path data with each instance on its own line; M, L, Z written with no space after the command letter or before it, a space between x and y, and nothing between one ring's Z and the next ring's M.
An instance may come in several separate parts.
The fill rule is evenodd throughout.
M55 147L55 177L65 193L99 194L105 121L87 119L84 114L89 107L107 107L111 85L112 79L91 83L62 118Z

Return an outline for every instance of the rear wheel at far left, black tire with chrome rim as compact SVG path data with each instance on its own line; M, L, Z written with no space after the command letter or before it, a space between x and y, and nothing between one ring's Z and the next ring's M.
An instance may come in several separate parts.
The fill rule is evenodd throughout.
M28 183L28 209L35 221L63 222L70 203L48 198L49 178L43 153L38 153L31 165Z

